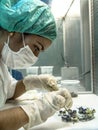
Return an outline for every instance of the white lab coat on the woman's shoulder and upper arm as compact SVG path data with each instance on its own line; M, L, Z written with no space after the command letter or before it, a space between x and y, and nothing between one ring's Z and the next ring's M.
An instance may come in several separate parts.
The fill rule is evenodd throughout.
M12 78L7 66L0 59L0 107L14 95L17 80Z

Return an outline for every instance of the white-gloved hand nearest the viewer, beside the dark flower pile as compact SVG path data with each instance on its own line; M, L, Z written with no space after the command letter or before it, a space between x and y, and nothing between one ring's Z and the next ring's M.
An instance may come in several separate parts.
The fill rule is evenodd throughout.
M21 105L29 117L29 123L24 128L27 130L43 123L64 106L67 108L72 106L71 95L66 89L44 93L39 99L33 100L31 104Z

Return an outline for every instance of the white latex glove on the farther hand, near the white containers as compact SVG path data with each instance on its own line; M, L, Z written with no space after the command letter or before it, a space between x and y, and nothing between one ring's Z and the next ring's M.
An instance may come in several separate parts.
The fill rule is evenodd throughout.
M23 79L23 83L27 91L32 89L58 90L55 77L47 74L28 75Z

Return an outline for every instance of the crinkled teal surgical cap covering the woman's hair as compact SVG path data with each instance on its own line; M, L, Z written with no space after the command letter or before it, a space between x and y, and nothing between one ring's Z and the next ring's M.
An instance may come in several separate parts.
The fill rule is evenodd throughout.
M0 27L9 32L56 38L55 18L40 0L0 0Z

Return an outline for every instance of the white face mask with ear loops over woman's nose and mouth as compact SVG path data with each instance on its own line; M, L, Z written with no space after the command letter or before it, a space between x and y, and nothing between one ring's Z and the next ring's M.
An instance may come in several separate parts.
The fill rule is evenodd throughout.
M32 66L38 59L28 45L25 46L24 35L23 44L24 47L18 52L14 52L9 48L9 36L8 41L5 43L2 49L2 60L11 69L23 69Z

